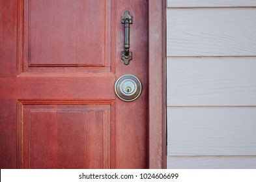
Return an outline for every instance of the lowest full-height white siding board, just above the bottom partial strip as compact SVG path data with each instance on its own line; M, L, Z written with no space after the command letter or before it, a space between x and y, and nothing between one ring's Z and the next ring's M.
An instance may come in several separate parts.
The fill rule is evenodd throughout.
M256 155L256 107L167 107L168 155Z

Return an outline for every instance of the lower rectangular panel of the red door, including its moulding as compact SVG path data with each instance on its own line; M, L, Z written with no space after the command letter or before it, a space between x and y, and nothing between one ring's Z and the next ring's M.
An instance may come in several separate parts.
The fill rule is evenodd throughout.
M20 168L110 168L111 105L20 103Z

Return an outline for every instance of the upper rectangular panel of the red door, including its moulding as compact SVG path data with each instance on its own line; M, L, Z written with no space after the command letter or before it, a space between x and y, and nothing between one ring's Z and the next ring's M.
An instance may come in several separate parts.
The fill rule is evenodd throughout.
M20 73L111 72L110 0L23 0L19 10Z

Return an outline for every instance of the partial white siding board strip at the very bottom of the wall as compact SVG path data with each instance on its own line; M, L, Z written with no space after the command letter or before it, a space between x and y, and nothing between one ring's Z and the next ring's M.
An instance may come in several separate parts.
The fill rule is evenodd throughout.
M256 156L167 156L167 168L176 169L255 169Z

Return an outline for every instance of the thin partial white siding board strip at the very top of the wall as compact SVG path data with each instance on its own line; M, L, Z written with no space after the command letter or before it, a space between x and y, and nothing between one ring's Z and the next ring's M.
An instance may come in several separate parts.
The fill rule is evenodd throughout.
M233 7L256 6L255 0L168 0L167 7Z

